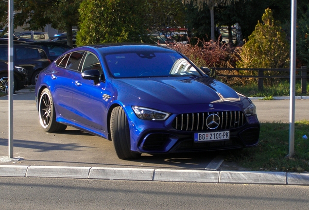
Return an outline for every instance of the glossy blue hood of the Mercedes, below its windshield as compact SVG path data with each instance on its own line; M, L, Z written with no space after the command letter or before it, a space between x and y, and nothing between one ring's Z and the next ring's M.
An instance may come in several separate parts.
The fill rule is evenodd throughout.
M211 77L156 77L114 79L113 85L141 100L166 105L240 101L227 85Z

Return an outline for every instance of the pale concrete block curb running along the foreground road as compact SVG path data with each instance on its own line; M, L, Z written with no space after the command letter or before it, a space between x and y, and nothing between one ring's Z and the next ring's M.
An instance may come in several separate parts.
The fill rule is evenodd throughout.
M309 185L309 174L286 172L0 165L0 176L229 184Z

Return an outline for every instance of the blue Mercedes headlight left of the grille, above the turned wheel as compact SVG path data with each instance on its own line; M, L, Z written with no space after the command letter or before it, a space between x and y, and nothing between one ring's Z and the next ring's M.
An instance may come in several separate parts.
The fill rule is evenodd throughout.
M166 120L170 113L161 112L158 110L145 108L145 107L139 107L139 106L132 106L132 109L134 113L137 115L139 119L142 120Z

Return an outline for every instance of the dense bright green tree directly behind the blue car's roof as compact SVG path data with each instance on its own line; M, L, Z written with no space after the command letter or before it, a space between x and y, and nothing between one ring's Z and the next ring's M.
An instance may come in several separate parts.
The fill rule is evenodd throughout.
M145 0L83 0L77 45L147 42Z

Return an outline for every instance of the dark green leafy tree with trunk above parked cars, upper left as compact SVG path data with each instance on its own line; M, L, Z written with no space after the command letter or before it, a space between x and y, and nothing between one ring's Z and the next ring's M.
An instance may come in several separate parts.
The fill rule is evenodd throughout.
M47 24L67 31L68 45L72 46L72 26L77 26L81 0L15 0L14 27L28 24L26 29L43 29ZM7 3L7 0L5 0ZM6 7L2 7L6 6ZM7 25L7 5L0 2L0 23ZM1 26L0 25L0 26Z

